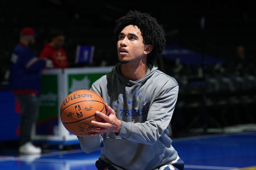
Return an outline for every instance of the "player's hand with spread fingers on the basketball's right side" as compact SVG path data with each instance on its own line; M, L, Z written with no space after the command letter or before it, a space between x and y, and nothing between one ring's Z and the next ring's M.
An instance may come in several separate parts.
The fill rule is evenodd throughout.
M116 132L119 133L121 129L121 121L116 118L115 111L108 106L108 104L105 104L105 107L108 110L108 115L105 115L104 113L101 113L99 111L96 111L95 114L100 116L102 119L105 120L104 123L92 121L91 123L95 126L99 126L99 128L89 128L94 133L89 134L89 136L97 136L103 133L108 132Z

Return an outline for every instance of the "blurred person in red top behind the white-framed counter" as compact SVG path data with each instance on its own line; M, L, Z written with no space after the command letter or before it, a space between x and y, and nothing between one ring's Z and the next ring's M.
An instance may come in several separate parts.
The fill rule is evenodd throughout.
M65 41L64 33L61 31L53 31L51 37L52 41L44 45L40 53L40 58L52 60L54 68L67 68L68 58L65 50L62 48Z

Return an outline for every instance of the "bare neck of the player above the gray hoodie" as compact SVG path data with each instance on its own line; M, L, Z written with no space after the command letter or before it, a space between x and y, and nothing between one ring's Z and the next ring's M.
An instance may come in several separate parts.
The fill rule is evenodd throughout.
M134 64L134 63L122 64L121 72L122 72L122 75L129 80L133 80L133 81L139 80L145 77L146 75L147 61L145 62L140 61L140 63L138 64Z

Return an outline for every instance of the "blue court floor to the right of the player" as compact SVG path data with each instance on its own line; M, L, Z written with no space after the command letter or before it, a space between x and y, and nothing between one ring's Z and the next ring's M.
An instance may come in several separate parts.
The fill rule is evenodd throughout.
M173 147L184 160L185 169L256 166L255 132L177 139Z

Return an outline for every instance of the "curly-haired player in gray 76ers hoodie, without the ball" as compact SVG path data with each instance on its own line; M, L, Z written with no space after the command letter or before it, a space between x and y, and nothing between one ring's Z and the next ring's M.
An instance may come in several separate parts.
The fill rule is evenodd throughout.
M177 101L176 80L157 70L154 59L165 46L163 28L146 13L129 11L116 21L114 38L119 63L93 83L91 90L106 101L105 122L79 136L86 153L104 146L99 170L181 170L184 162L167 136Z

